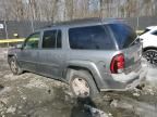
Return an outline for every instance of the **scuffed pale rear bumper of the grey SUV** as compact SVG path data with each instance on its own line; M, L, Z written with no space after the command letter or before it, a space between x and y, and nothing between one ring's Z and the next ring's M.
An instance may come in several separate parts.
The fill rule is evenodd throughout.
M128 91L145 81L147 74L147 67L142 67L137 73L132 72L129 75L120 74L112 75L112 86L108 86L108 89L100 89L100 91Z

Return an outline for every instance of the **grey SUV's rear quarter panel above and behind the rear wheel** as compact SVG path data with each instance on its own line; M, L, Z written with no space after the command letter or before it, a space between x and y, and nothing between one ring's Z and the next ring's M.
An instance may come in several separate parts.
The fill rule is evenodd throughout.
M96 51L96 50L69 50L67 65L84 66L88 68L98 88L109 88L112 81L110 74L110 63L119 51Z

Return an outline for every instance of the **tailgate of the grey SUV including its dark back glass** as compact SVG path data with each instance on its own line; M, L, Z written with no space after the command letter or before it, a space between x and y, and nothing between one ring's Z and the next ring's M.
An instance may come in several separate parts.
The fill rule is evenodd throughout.
M141 67L142 44L136 42L136 34L125 24L110 24L119 49L125 57L125 70L138 70Z

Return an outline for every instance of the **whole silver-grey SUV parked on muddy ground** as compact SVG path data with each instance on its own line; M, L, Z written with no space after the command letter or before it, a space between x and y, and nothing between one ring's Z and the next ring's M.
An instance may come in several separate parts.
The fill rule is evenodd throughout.
M81 20L56 24L28 36L9 50L14 75L24 70L70 84L76 96L100 91L125 91L140 84L142 46L120 21Z

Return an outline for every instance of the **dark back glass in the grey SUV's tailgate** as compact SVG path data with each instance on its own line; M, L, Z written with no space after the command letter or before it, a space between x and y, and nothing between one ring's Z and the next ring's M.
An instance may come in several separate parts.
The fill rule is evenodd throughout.
M135 31L125 24L109 24L120 49L128 48L135 39Z

